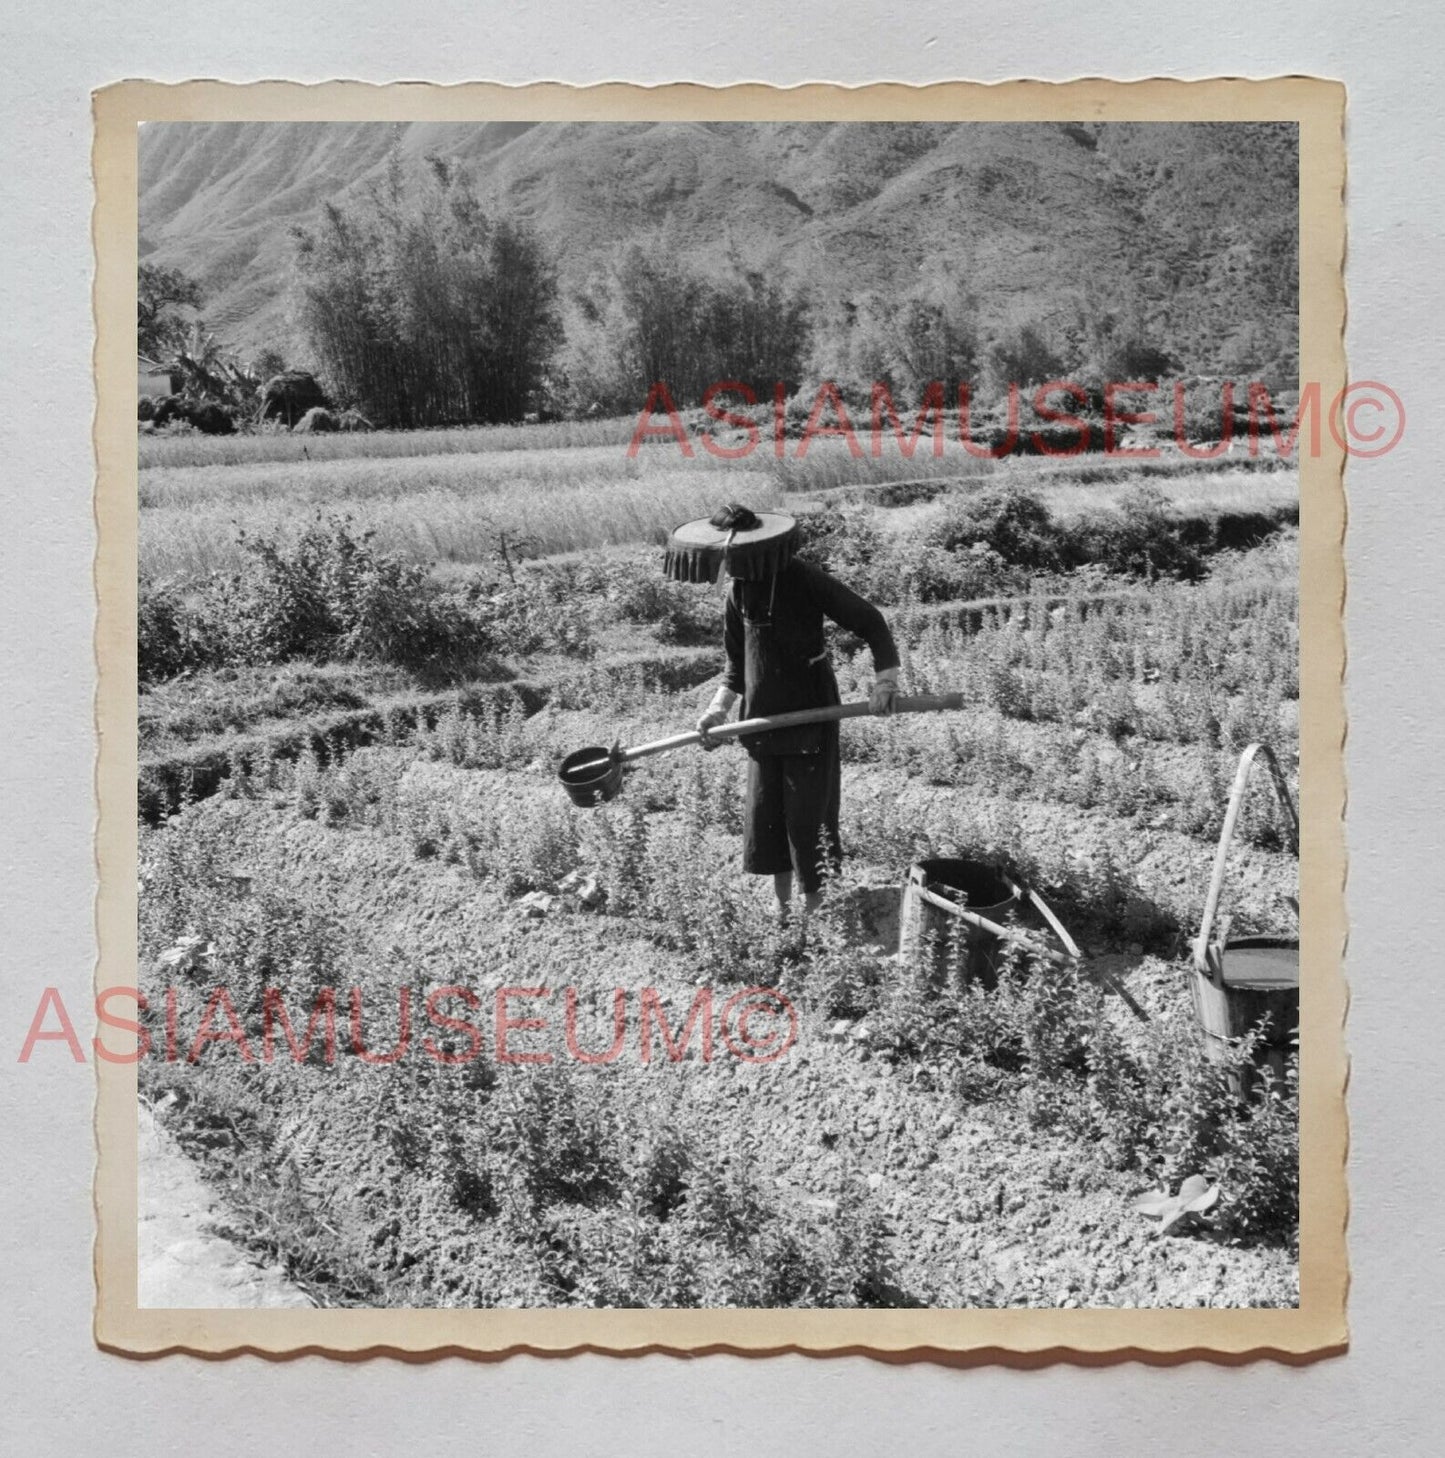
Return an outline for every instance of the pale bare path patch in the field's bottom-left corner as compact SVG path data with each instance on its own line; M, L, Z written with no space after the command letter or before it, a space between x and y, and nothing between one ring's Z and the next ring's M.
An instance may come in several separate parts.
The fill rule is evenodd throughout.
M139 1124L140 1306L313 1305L276 1266L262 1266L216 1233L216 1197L149 1108L140 1108Z

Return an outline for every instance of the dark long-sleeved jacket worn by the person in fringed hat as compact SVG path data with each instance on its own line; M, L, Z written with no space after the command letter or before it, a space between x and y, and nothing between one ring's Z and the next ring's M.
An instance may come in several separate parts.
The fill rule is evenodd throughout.
M793 560L771 579L732 583L723 617L723 684L742 698L739 717L760 719L840 701L824 644L825 618L868 643L875 672L898 666L898 649L884 615L821 567ZM752 755L817 754L825 728L779 729L749 735L744 744Z

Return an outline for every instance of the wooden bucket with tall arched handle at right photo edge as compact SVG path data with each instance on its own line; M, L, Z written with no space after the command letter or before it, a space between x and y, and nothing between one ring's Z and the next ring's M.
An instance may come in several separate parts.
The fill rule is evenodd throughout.
M1251 744L1239 757L1229 808L1225 811L1215 869L1204 898L1204 916L1193 946L1190 987L1194 1013L1204 1037L1204 1051L1216 1063L1226 1061L1229 1048L1253 1029L1260 1028L1255 1050L1257 1067L1269 1067L1283 1077L1285 1060L1299 1028L1299 937L1229 936L1229 919L1219 914L1229 846L1234 840L1250 774L1263 760L1274 784L1274 796L1289 828L1290 847L1299 854L1299 814L1289 784L1266 744ZM1298 913L1299 907L1295 903ZM1244 1092L1244 1077L1232 1075L1236 1092Z

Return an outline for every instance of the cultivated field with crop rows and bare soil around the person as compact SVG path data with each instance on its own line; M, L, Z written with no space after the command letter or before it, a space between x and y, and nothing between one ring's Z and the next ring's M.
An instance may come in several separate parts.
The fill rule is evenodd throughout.
M141 1092L232 1236L318 1305L1295 1303L1292 1077L1238 1098L1187 981L1239 751L1298 787L1293 474L630 426L143 442L141 989L179 1041ZM595 809L557 781L710 697L720 596L658 544L726 500L803 515L904 691L964 695L844 728L802 946L739 870L741 751ZM1235 930L1293 933L1264 790L1236 850ZM1009 868L1082 955L900 959L929 856ZM1140 1212L1194 1175L1207 1212Z

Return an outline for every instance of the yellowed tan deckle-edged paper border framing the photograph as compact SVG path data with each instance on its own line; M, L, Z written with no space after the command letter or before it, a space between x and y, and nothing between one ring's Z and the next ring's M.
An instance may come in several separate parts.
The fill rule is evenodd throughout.
M136 984L134 281L140 121L1296 121L1301 378L1344 385L1344 87L1273 80L1102 79L868 87L327 82L157 85L95 95L99 803L96 989ZM1344 1088L1344 483L1330 432L1301 455L1301 1303L1295 1311L155 1311L136 1305L136 1066L96 1061L99 1346L133 1356L519 1352L866 1353L881 1360L1038 1366L1206 1357L1299 1362L1347 1343Z

